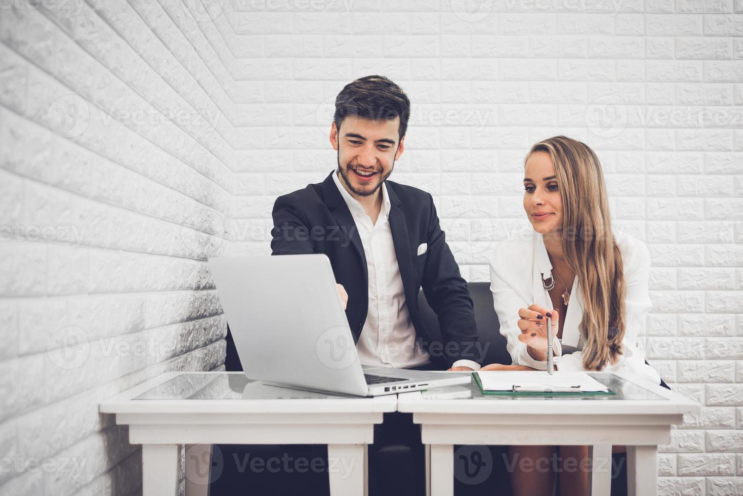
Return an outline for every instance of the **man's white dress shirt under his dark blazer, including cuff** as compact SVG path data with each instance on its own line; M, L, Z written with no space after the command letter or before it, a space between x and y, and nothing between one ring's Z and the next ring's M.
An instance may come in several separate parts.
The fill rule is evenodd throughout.
M356 344L361 364L395 368L426 365L430 357L416 342L400 277L389 226L391 203L386 184L382 183L382 209L377 222L372 223L363 206L340 183L337 172L333 174L333 181L356 223L369 275L369 310ZM457 360L454 366L459 365L479 368L472 360Z

